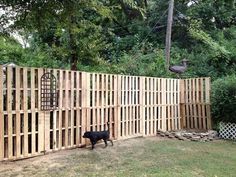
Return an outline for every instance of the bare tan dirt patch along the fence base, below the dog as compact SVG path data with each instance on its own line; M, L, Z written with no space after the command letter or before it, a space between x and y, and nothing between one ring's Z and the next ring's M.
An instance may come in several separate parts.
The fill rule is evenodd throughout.
M150 141L161 141L163 138L149 137ZM30 159L19 160L14 162L0 162L0 177L7 176L63 176L63 170L73 169L80 165L81 168L88 168L89 161L101 161L100 154L110 154L113 163L119 163L120 149L126 149L126 152L132 153L133 146L145 146L143 138L133 138L128 140L115 141L114 146L104 148L104 144L98 144L93 151L90 147L78 148L72 150L62 150L55 153L49 153ZM142 153L142 150L138 154ZM104 155L105 155L104 154ZM112 164L112 163L111 163ZM110 165L112 167L112 165ZM96 170L101 170L98 165L94 166ZM73 170L72 170L73 171ZM73 174L71 174L73 176Z

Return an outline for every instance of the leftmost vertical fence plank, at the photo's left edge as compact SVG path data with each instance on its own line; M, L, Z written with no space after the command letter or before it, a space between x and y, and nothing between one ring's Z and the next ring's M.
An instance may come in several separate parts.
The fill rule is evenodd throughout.
M0 65L0 161L4 158L3 66Z

